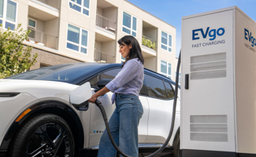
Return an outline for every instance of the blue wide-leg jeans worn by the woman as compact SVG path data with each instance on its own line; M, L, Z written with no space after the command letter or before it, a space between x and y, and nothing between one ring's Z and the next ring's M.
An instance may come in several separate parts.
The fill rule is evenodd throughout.
M139 97L132 94L117 94L116 106L117 108L109 119L113 140L124 154L138 157L138 125L143 115L143 106ZM98 157L115 157L116 154L117 151L105 130L99 143Z

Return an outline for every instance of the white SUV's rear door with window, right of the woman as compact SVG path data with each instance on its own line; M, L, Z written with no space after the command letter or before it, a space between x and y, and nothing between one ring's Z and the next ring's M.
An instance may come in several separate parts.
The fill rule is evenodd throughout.
M173 115L173 90L166 93L165 82L145 75L149 104L148 136L145 143L163 144L169 135Z

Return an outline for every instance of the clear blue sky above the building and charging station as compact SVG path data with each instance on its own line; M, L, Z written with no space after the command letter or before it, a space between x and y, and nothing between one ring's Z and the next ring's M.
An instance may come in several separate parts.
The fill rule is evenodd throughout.
M256 21L256 0L127 0L176 27L176 57L180 53L181 18L236 5Z

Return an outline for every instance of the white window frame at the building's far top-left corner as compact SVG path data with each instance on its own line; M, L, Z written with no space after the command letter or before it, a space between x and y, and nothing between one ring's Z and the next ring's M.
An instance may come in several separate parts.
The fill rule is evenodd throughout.
M8 1L16 3L15 22L6 19L6 16L7 16L7 3L8 3ZM3 4L3 7L2 7L2 9L3 9L2 10L2 17L0 17L0 20L2 20L2 28L7 30L8 27L6 28L6 22L8 22L9 24L14 24L14 29L15 29L17 27L17 19L18 19L17 16L18 16L18 8L19 8L18 4L19 3L16 2L16 1L13 1L13 0L3 0L3 2L4 2L4 4ZM10 30L12 30L12 29L10 29Z

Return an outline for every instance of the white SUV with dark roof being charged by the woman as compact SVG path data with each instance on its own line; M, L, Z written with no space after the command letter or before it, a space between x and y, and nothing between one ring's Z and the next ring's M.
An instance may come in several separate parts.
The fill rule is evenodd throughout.
M122 64L61 64L0 79L0 156L94 156L105 130L95 104L77 107L70 93L91 83L94 93L101 79L113 79ZM168 137L174 82L154 71L144 70L139 100L144 114L139 122L139 152L161 147ZM112 93L98 100L109 117L115 105ZM167 151L179 156L180 100L176 107L173 137Z

